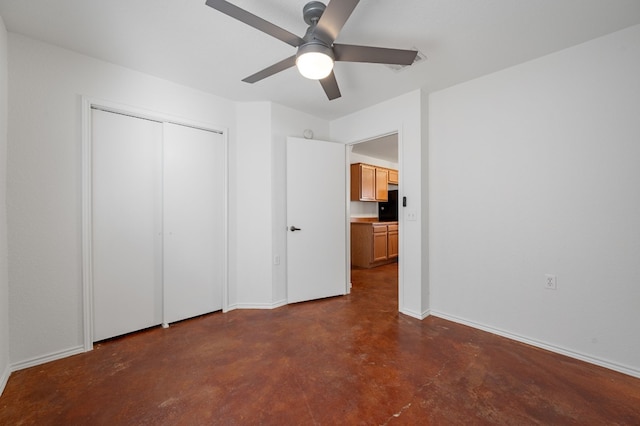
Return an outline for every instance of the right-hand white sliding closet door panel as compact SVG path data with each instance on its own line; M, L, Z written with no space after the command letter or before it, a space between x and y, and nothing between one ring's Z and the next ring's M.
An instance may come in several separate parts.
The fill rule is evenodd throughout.
M222 309L225 265L223 136L164 124L165 322Z

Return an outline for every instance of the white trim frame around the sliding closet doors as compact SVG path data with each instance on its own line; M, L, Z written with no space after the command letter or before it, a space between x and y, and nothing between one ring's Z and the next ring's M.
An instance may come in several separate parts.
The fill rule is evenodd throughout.
M228 129L212 123L203 123L195 120L175 117L169 114L150 111L143 108L116 102L82 97L82 311L83 311L83 341L84 350L93 349L93 251L92 251L92 109L99 109L116 114L129 115L136 118L153 120L160 123L178 124L193 127L210 132L220 133L224 144L224 171L223 171L223 222L224 222L224 259L223 259L223 283L222 283L222 311L229 310L229 150ZM164 321L164 320L163 320ZM164 324L163 324L164 325Z

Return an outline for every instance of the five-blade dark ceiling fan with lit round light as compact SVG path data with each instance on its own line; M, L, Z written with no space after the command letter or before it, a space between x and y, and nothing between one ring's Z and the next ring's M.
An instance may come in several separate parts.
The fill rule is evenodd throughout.
M331 0L326 6L319 1L307 3L302 9L302 15L309 28L303 37L298 37L228 1L206 0L206 4L298 49L295 55L258 71L242 81L255 83L297 66L304 77L319 80L329 100L333 100L341 96L333 73L335 61L411 65L418 53L415 50L334 43L359 1Z

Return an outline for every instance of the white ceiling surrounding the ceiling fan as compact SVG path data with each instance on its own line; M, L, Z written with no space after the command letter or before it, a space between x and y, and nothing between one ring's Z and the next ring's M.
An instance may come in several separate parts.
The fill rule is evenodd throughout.
M338 0L333 0L338 1ZM400 72L340 62L342 98L291 68L240 80L295 53L205 0L0 0L10 32L237 101L269 100L334 119L422 88L442 89L640 23L639 0L363 0L337 42L412 48ZM306 0L232 3L300 36ZM597 61L598 58L593 58Z

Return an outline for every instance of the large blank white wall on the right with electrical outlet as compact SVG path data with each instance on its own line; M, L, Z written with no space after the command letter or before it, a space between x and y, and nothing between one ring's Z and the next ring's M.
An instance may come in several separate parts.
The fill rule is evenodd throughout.
M431 95L436 315L640 376L639 40Z

